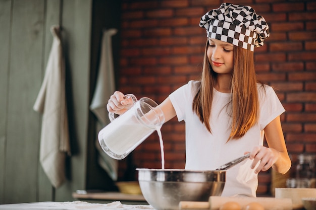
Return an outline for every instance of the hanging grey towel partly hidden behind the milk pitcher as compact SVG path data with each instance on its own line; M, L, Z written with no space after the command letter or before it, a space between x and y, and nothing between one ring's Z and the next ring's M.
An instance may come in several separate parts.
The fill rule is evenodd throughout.
M101 54L96 87L90 104L90 110L97 117L96 136L98 131L110 123L107 103L115 91L115 77L112 55L112 36L117 29L104 30L102 34ZM95 141L98 151L98 164L116 181L118 177L118 161L108 156L100 147L98 139Z

